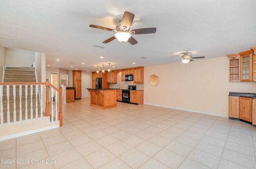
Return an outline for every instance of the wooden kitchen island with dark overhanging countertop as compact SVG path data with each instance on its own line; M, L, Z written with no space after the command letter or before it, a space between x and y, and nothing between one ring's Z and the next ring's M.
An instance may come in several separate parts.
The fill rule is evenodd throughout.
M86 88L90 92L90 106L101 109L116 107L116 88Z

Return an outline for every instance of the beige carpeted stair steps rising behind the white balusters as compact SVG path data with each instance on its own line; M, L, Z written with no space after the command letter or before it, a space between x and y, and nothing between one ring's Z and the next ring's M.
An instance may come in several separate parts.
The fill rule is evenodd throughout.
M35 83L36 76L35 76L34 67L6 67L4 71L4 82ZM12 85L9 86L9 95L10 95L9 101L6 99L3 99L4 123L17 122L17 121L29 120L36 117L40 117L41 116L40 99L39 99L40 94L39 95L37 94L36 96L36 86L35 85L27 86L27 102L26 102L26 96L25 96L26 87L22 86L22 90L20 90L19 86L16 85L15 86L16 87L15 106L14 106L13 87L14 86ZM31 99L30 87L32 87L32 99ZM22 94L21 99L20 99L20 91ZM3 86L3 98L7 98L6 86ZM10 112L10 119L7 118L8 112ZM43 116L45 116L45 113L43 114Z

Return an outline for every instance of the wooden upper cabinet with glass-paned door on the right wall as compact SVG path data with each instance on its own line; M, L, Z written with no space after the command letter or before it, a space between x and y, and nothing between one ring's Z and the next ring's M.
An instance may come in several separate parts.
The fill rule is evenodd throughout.
M229 54L229 81L256 81L256 47L248 51Z

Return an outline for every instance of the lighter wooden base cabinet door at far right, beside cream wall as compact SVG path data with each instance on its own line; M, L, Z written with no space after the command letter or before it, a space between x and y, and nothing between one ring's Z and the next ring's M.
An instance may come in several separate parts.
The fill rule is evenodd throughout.
M239 118L239 96L228 96L228 116Z

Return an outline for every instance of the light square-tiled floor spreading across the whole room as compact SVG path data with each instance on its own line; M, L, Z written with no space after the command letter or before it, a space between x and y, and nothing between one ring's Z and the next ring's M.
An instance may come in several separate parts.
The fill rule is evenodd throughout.
M63 105L61 128L0 141L0 159L14 160L0 168L256 168L256 126L145 104L101 110L89 102Z

